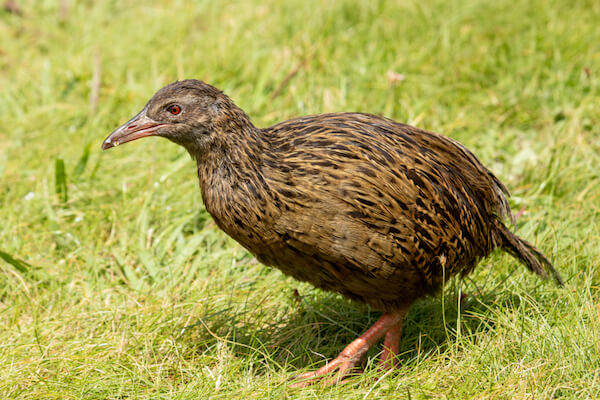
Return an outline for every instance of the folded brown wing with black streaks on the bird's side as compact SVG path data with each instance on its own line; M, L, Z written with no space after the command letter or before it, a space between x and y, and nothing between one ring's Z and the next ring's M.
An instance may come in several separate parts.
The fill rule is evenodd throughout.
M284 210L275 229L294 245L379 277L408 264L434 275L433 265L470 262L470 248L489 246L487 204L462 170L472 157L489 171L456 142L364 114L285 124L269 132L275 158L266 162ZM280 129L294 137L278 141Z

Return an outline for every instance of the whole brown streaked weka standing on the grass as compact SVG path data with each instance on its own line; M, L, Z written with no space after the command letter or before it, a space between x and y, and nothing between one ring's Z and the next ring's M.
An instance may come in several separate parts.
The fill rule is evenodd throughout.
M460 143L361 113L294 118L266 129L197 80L159 90L104 141L162 136L196 160L217 225L256 258L383 312L362 336L296 386L339 382L385 336L394 366L415 300L469 273L496 248L545 277L548 259L514 235L504 185Z

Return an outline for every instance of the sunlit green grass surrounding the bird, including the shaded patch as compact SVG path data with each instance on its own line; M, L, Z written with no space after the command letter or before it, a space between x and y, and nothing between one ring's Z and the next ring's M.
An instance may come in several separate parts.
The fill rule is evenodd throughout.
M18 3L0 11L0 397L600 397L598 1ZM566 286L495 254L414 306L397 373L374 349L346 385L288 388L378 314L256 263L182 148L100 152L191 77L258 126L356 110L458 139Z

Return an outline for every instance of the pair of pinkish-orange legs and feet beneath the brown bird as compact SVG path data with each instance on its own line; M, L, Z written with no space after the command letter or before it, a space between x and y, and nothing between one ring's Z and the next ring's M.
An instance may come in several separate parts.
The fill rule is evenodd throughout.
M386 335L387 348L391 349L394 354L398 352L398 344L395 344L395 340L400 339L400 325L404 320L404 316L408 312L408 307L403 310L395 312L384 313L381 318L377 320L365 333L363 333L358 339L350 343L346 348L331 362L327 363L323 367L316 371L307 372L298 375L295 382L291 387L303 387L312 385L316 380L323 378L325 375L330 374L337 370L337 373L324 383L326 385L339 383L342 379L348 376L356 364L358 364L363 355L373 346L383 335L386 335L391 329L394 330L392 334ZM388 352L389 353L389 352ZM390 356L391 357L391 356Z

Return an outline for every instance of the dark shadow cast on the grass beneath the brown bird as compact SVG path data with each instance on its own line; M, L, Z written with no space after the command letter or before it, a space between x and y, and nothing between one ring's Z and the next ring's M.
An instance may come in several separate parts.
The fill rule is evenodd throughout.
M457 339L458 296L447 294L419 300L404 324L400 344L401 364L441 353ZM511 293L467 296L460 304L462 340L493 328L494 310L518 306L520 299ZM189 334L179 337L197 352L212 352L225 341L238 357L252 361L255 374L267 368L287 366L292 370L321 366L331 360L381 315L367 306L351 302L334 293L311 292L305 297L290 296L285 313L266 306L239 313L235 307L201 318L186 327ZM278 315L271 318L271 315ZM381 343L369 351L376 357Z

